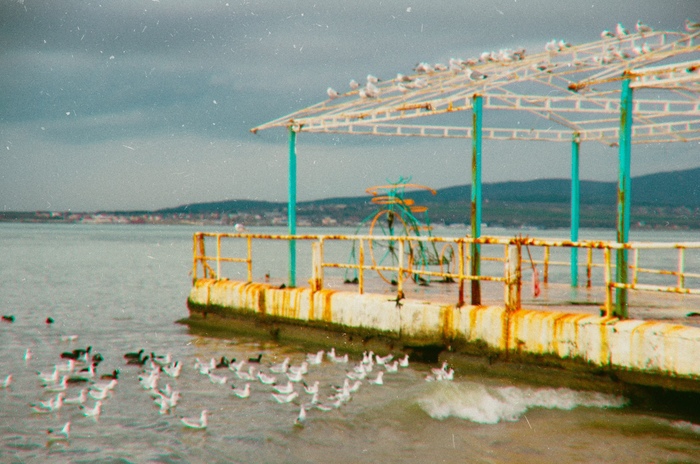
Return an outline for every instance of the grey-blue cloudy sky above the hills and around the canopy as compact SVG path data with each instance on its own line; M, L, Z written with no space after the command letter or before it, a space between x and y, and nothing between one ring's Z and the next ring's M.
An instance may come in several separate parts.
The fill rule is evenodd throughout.
M0 0L0 209L155 210L287 200L287 134L250 129L416 63L622 22L682 30L697 0ZM464 114L465 125L471 115ZM484 125L488 124L484 115ZM635 145L632 175L700 166L697 143ZM470 183L469 140L299 134L299 201L410 177ZM483 182L568 178L570 147L483 143ZM581 147L581 178L617 152Z

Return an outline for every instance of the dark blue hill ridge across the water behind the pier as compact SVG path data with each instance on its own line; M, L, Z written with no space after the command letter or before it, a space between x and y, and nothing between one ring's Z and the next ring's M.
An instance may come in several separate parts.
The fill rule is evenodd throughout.
M581 181L582 205L613 206L617 199L616 182ZM450 204L469 202L470 185L439 189L437 195L429 192L411 193L410 197L421 204ZM522 182L496 182L483 185L485 201L509 203L568 204L571 201L569 179L539 179ZM333 204L363 205L369 196L337 197L300 202L300 208L312 208ZM700 168L685 171L662 172L632 179L632 204L634 206L700 207ZM252 200L226 200L195 203L162 209L159 213L244 213L253 211L281 211L286 202Z

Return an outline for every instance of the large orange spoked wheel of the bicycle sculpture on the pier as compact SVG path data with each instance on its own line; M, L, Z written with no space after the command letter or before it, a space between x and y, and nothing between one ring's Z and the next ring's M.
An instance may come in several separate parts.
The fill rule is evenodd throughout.
M382 280L390 285L396 285L406 276L411 274L413 266L413 250L407 240L403 243L403 257L401 258L401 240L408 237L410 229L406 221L395 211L384 209L375 214L369 226L369 235L381 237L378 240L369 240L369 255L374 267L391 267L392 269L376 269ZM399 262L402 262L402 272L399 276Z

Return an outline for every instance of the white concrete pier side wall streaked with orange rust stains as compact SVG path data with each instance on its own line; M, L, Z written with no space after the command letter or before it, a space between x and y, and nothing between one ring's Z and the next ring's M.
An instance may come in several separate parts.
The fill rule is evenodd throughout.
M198 280L189 301L239 313L379 331L403 341L480 342L501 352L700 379L700 328L586 314L395 300L386 295Z

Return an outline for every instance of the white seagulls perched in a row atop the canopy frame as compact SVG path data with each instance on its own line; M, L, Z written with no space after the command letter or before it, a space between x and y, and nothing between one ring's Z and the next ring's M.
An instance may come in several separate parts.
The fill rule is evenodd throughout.
M689 19L686 19L685 30L691 34L700 31L700 22L693 22ZM640 35L643 38L645 34L653 32L653 29L647 24L644 24L641 21L637 21L637 24L635 25L635 31L636 34ZM614 31L604 30L603 32L601 32L600 37L603 40L622 40L628 37L629 35L629 30L625 28L622 25L622 23L617 23L617 26L615 27ZM570 47L571 44L565 40L552 39L551 41L545 44L544 49L546 52L549 53L557 53L562 52ZM616 60L629 59L635 56L643 55L645 53L650 53L651 51L652 47L647 43L644 43L641 46L630 47L629 50L624 50L618 46L615 46L614 44L610 44L608 45L606 51L601 56L594 57L593 61L597 65L610 64ZM483 52L481 55L479 55L479 57L469 58L467 60L450 58L447 64L436 63L434 65L431 65L426 62L421 62L413 68L413 71L416 74L432 74L434 72L440 71L452 71L455 73L464 73L468 80L474 81L486 79L488 75L474 69L473 66L489 62L508 64L514 61L523 60L525 58L525 54L526 50L524 48L518 48L516 50L501 49L498 52ZM533 68L540 71L544 71L551 66L551 63L543 62L533 65ZM382 89L377 86L380 80L381 79L377 78L376 76L368 74L364 86L360 85L359 82L353 79L350 81L350 91L348 93L342 94L334 88L328 87L328 89L326 89L326 94L331 100L334 100L343 95L352 95L354 94L354 92L357 92L361 99L378 98L382 92ZM411 90L422 89L429 85L428 80L425 78L407 76L401 73L397 74L396 78L393 79L393 81L395 83L394 88L402 94L406 94Z

